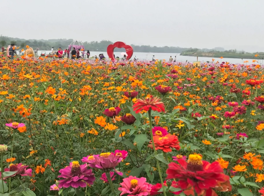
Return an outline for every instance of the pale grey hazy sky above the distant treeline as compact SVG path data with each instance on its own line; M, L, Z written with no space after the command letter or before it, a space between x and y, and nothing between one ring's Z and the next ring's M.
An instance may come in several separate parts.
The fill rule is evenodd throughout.
M0 34L264 51L263 0L1 0Z

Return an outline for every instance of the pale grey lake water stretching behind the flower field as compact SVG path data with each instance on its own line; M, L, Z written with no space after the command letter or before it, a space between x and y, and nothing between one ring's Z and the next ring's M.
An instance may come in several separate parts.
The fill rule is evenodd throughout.
M41 52L46 52L46 54L49 54L51 51L38 51L38 56L40 56ZM99 56L99 54L103 53L104 56L106 58L108 58L107 52L102 52L102 51L90 51L90 57L92 56ZM119 56L120 58L122 58L121 52L114 52L115 56ZM138 60L152 60L153 55L155 56L155 59L159 59L159 60L163 60L165 59L166 61L169 60L170 56L172 56L172 58L174 59L174 56L177 56L177 62L185 62L187 60L187 62L196 62L197 61L197 57L194 56L181 56L180 53L144 53L144 52L134 52L133 53L133 57L131 59L133 59L134 57ZM215 62L219 61L219 62L230 62L233 64L244 64L243 61L248 61L247 64L252 63L252 59L239 59L239 58L214 58ZM198 57L198 61L200 62L211 62L212 58L211 57ZM259 64L263 64L263 60L261 59L259 61Z

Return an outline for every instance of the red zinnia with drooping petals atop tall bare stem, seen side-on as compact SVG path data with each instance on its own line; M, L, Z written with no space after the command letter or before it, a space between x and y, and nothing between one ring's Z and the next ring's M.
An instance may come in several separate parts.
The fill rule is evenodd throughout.
M145 100L137 99L137 102L133 105L134 111L139 113L142 110L154 110L157 112L165 112L165 106L163 102L160 102L161 99L157 97L149 97Z

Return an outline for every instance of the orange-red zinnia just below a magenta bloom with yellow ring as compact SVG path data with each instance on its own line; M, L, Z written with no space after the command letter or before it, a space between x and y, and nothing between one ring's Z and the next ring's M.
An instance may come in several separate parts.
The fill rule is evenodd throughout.
M179 150L181 147L179 145L178 137L175 135L166 135L164 137L154 136L154 145L155 149L162 150L163 152L171 152L172 148ZM150 148L153 148L152 142L148 145Z

